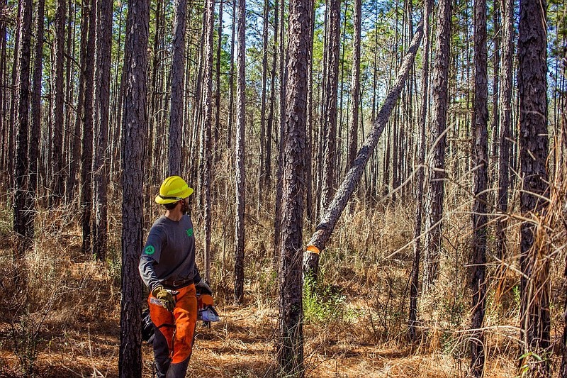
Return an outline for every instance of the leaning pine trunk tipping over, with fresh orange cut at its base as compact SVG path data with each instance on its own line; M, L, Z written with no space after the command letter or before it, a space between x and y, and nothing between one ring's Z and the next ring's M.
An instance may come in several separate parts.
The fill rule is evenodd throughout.
M388 122L392 109L395 106L396 101L398 101L405 80L408 79L410 67L413 65L415 60L415 54L417 53L417 48L419 48L422 35L423 26L422 22L420 22L413 36L410 48L403 58L402 65L398 71L398 77L395 79L390 91L388 91L388 94L386 95L382 108L376 117L376 121L374 121L374 126L371 128L366 141L358 152L357 158L354 159L353 165L350 167L342 184L339 186L330 206L325 211L325 216L322 217L315 233L311 236L307 247L308 252L305 252L303 262L303 269L304 271L307 270L306 274L311 274L311 272L308 271L309 266L305 264L305 260L308 259L307 256L309 254L318 254L325 249L325 245L327 245L327 241L330 238L332 230L335 229L335 225L339 220L344 206L347 205L347 201L349 201L352 193L354 192L354 187L360 181L360 178L364 173L366 163L368 162L372 152L374 152L374 148L376 148L376 145L378 144L378 140L380 139L384 127Z

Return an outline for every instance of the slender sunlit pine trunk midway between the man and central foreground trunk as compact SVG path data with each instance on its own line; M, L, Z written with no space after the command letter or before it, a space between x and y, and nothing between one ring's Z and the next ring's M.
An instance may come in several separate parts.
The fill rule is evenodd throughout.
M245 126L246 126L246 1L238 0L238 84L236 106L236 224L235 224L235 301L244 300L245 237Z

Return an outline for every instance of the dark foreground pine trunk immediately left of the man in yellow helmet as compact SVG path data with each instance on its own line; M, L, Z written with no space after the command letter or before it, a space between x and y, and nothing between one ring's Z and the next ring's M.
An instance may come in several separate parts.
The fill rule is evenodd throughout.
M150 4L128 1L124 57L122 151L122 287L120 306L121 378L142 377L142 280L137 265L143 247L143 150L146 125L147 48Z

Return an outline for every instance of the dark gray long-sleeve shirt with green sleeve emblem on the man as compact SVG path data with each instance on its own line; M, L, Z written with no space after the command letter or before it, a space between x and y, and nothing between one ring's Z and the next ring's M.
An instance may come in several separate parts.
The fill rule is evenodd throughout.
M184 215L178 222L167 216L155 221L147 235L138 269L150 291L164 281L201 281L195 263L193 223L189 216Z

